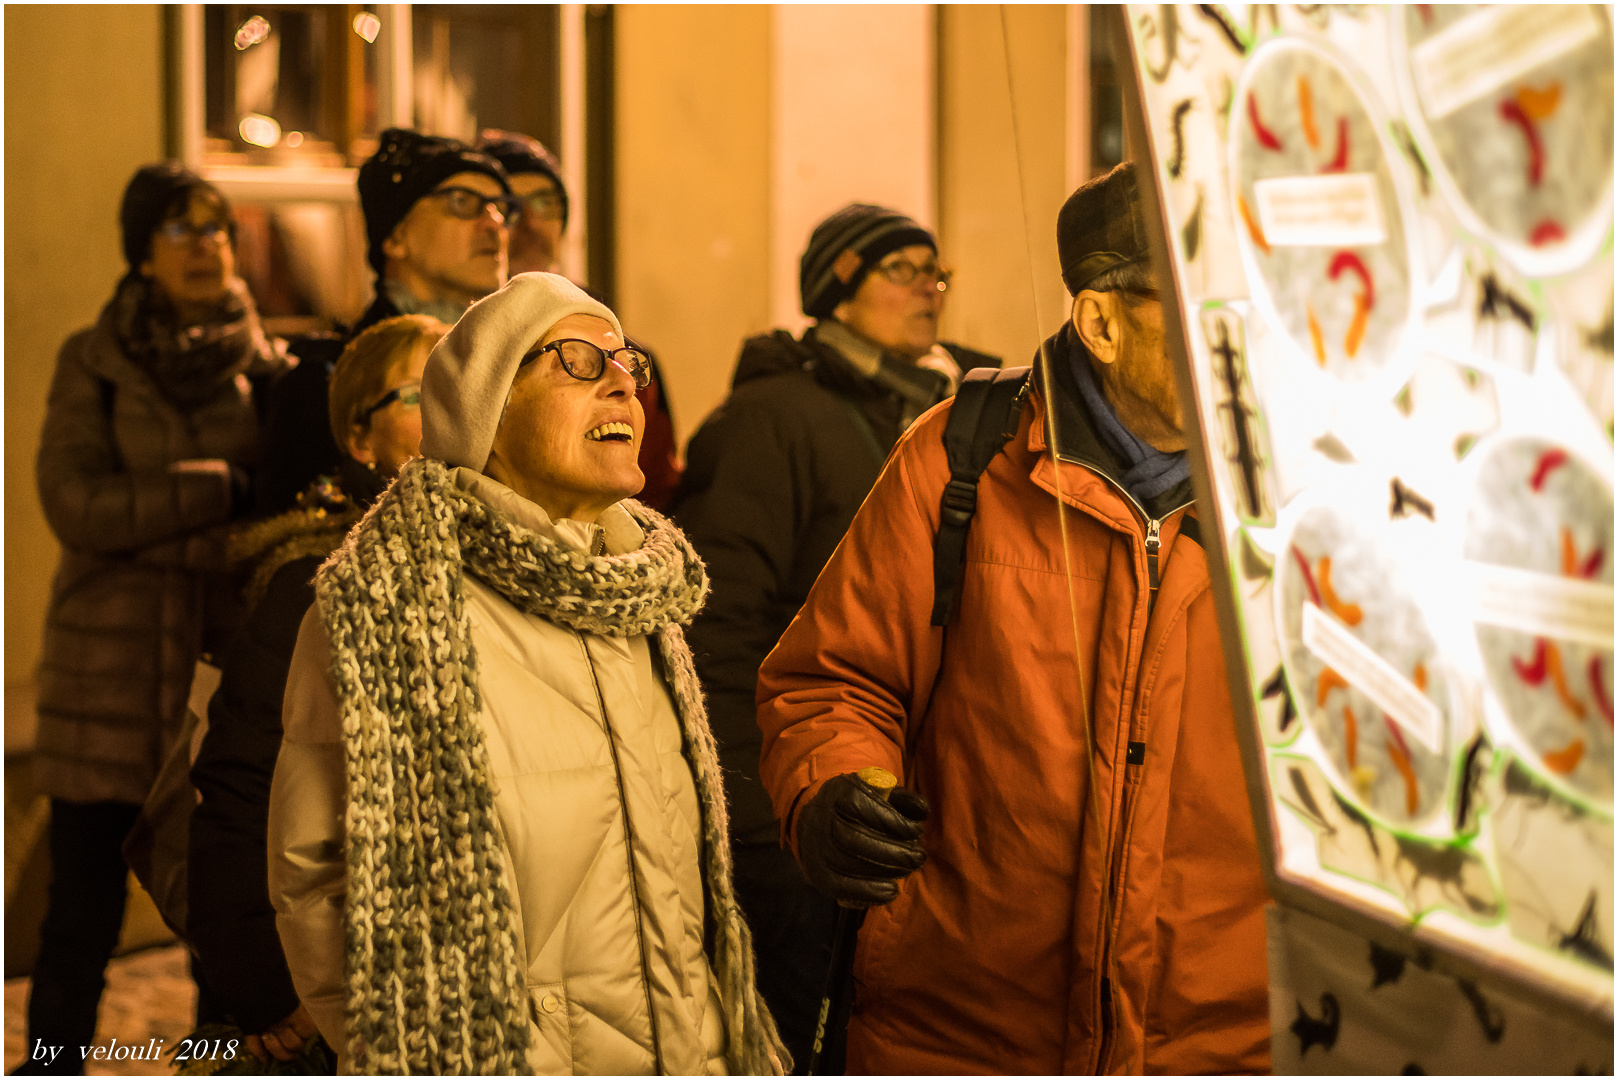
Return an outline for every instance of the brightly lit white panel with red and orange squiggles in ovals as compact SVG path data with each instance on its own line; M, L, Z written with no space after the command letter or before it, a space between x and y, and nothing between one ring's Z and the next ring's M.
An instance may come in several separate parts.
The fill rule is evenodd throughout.
M1610 8L1126 11L1277 897L1610 1017Z

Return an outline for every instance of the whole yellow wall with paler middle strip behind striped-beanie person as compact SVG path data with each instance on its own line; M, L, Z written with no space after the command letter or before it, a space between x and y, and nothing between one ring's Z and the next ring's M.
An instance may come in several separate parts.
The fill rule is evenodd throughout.
M620 316L681 444L744 337L807 322L798 254L853 199L938 230L945 337L1026 363L1061 324L1065 5L625 5L616 34Z

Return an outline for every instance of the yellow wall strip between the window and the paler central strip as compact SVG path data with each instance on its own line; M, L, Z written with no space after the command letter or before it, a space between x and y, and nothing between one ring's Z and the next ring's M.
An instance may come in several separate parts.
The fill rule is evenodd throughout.
M616 290L657 351L681 445L769 321L770 11L625 5Z

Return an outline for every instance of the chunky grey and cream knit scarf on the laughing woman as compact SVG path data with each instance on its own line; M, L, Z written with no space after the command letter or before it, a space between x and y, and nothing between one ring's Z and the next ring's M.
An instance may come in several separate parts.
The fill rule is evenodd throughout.
M527 1070L526 959L477 712L463 573L523 612L595 635L657 635L702 806L704 879L733 1074L791 1059L754 988L730 879L718 755L681 623L707 575L660 515L625 504L646 542L592 557L458 489L442 461L404 466L316 594L332 640L348 779L348 1054L364 1072Z

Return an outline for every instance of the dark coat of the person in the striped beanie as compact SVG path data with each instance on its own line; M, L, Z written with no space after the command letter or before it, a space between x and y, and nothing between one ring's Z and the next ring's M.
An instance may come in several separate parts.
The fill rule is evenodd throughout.
M985 353L945 348L963 371L1000 366ZM934 402L945 393L940 376ZM759 784L759 664L877 483L906 415L919 411L814 329L803 338L777 330L743 345L730 397L686 447L673 517L714 589L688 640L709 695L738 845L775 847L780 839Z

